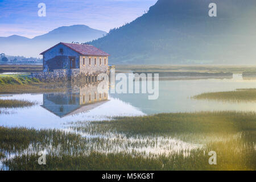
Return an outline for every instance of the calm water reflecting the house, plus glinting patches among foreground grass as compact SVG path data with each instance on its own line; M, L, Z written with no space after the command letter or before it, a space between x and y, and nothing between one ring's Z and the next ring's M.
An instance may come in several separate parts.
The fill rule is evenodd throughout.
M75 131L89 139L85 145L94 151L142 152L149 154L172 154L172 152L189 151L203 147L212 140L229 140L239 138L240 134L222 137L214 134L172 134L150 135L148 137L126 137L120 133L94 134L90 131L77 131L76 127L85 127L90 121L102 121L115 116L135 116L167 112L238 110L256 111L256 102L229 103L221 101L198 101L191 97L204 92L220 92L240 88L256 88L256 80L243 80L241 75L230 79L201 80L164 80L159 81L158 100L148 100L147 94L111 94L97 92L96 85L68 89L65 93L14 94L2 95L0 99L18 99L36 101L32 107L18 109L1 109L11 114L0 114L0 126L24 126L35 129L62 129ZM103 139L103 140L102 140ZM100 141L100 143L99 143ZM36 154L38 146L30 145L19 152L5 152L6 158L16 155ZM39 147L40 148L40 147ZM56 151L58 148L41 148L43 151ZM86 152L86 151L84 151ZM0 169L8 170L2 165Z

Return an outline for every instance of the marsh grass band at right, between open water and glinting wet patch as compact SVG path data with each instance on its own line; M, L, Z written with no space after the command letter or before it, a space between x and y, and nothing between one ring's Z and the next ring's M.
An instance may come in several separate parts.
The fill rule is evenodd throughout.
M237 133L256 130L256 114L236 111L163 113L142 117L119 117L113 121L94 123L96 125L84 129L98 133L112 131L126 135Z

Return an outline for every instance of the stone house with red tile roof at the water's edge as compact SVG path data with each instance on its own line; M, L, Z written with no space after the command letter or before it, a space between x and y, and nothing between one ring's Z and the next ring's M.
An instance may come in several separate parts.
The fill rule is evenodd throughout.
M43 72L97 75L108 71L109 54L88 44L60 42L40 55L43 55Z

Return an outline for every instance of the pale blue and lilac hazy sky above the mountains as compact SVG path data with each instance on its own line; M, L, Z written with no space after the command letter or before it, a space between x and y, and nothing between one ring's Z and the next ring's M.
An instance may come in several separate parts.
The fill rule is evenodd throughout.
M157 0L0 0L0 36L33 38L60 26L85 24L98 30L129 23ZM46 17L38 4L46 4Z

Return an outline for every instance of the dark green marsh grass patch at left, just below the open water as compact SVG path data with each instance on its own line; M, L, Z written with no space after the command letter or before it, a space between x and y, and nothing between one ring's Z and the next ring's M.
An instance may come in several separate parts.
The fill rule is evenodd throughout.
M40 149L41 147L58 147L59 144L66 146L65 144L81 144L80 135L74 133L67 133L60 130L36 130L27 129L25 127L0 127L0 152L20 152L28 148L30 144L34 146L34 149Z

